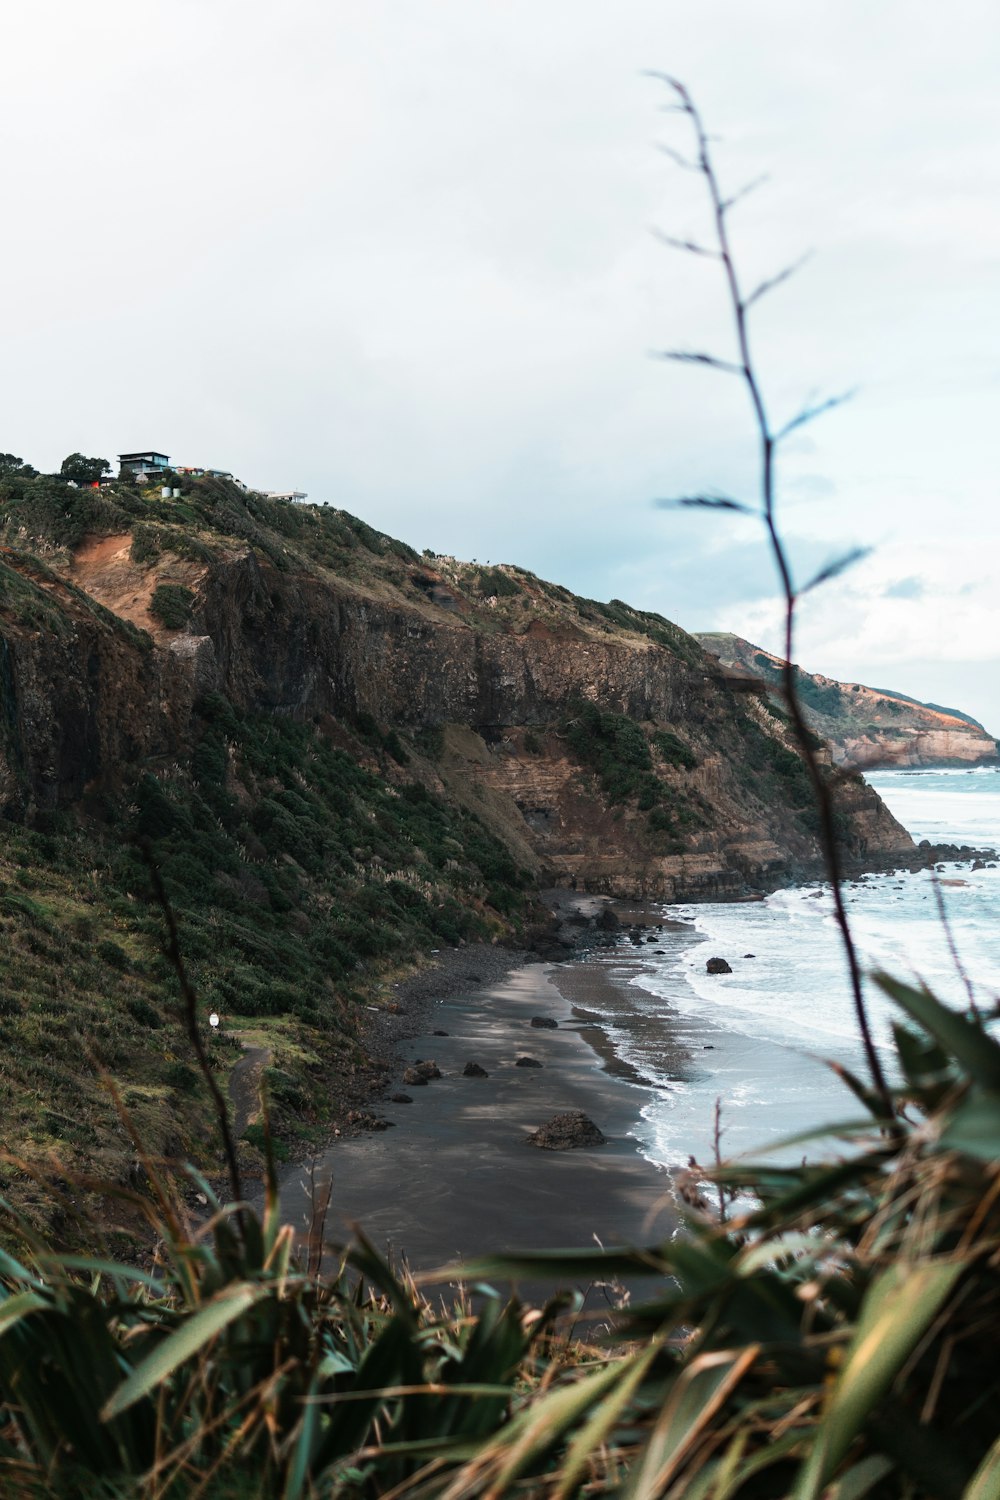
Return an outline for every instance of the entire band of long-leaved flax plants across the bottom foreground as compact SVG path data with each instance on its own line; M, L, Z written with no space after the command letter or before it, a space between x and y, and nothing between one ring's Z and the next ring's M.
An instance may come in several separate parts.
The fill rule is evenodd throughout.
M121 1500L180 1500L192 1486L345 1500L990 1500L1000 1044L930 992L880 982L901 1016L906 1113L888 1122L846 1074L846 1154L693 1164L682 1236L483 1257L462 1272L475 1308L433 1308L364 1238L327 1274L310 1242L312 1260L295 1263L273 1176L259 1216L195 1176L210 1214L195 1248L148 1164L154 1191L135 1202L163 1246L150 1270L61 1256L12 1220L0 1485L84 1500L106 1485ZM294 1077L268 1077L303 1107ZM198 1083L180 1060L171 1078L181 1094ZM48 1124L61 1140L85 1134L66 1113ZM271 1162L288 1154L265 1120L243 1138ZM619 1311L613 1350L556 1336L565 1298L525 1318L489 1288L639 1275L658 1286Z

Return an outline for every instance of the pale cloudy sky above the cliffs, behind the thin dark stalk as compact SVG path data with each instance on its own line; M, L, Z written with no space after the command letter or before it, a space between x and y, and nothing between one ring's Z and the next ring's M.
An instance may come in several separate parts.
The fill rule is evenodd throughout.
M0 20L0 448L156 447L780 648L684 80L727 190L808 669L1000 734L990 0L33 0Z

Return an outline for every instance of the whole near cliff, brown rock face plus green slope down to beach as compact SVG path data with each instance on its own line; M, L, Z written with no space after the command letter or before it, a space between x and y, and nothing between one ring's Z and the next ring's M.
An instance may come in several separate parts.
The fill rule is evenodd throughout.
M223 1017L213 1065L267 1059L297 1155L354 1128L400 969L544 944L541 880L738 898L820 872L786 720L676 626L181 488L0 476L0 1194L60 1238L52 1158L123 1191L129 1132L214 1162L147 858ZM862 782L838 798L855 867L915 858Z

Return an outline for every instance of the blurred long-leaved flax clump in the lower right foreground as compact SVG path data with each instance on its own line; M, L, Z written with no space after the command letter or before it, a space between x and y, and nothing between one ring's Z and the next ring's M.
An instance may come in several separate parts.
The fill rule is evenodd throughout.
M466 1268L561 1281L657 1268L664 1292L619 1330L634 1352L568 1371L420 1492L1000 1496L1000 1046L930 992L879 982L907 1017L898 1131L846 1076L871 1118L838 1128L843 1158L709 1173L753 1194L741 1220L720 1224L691 1191L667 1245Z

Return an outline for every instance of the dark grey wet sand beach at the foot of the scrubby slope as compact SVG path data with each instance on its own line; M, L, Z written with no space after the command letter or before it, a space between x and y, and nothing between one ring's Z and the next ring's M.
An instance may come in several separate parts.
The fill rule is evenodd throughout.
M337 1142L316 1158L316 1180L333 1188L327 1239L345 1242L360 1224L415 1270L492 1251L667 1239L676 1227L669 1174L639 1155L630 1134L648 1089L616 1065L586 1011L574 1011L600 982L609 981L585 962L529 963L432 1002L421 1034L400 1048L388 1090L412 1102L382 1101L393 1128ZM558 1026L532 1028L532 1016ZM522 1054L541 1066L517 1066ZM442 1077L403 1084L403 1066L418 1058L433 1059ZM469 1060L489 1077L463 1077ZM583 1110L607 1144L553 1152L525 1143L565 1110ZM285 1172L288 1222L307 1227L310 1192L307 1170Z

